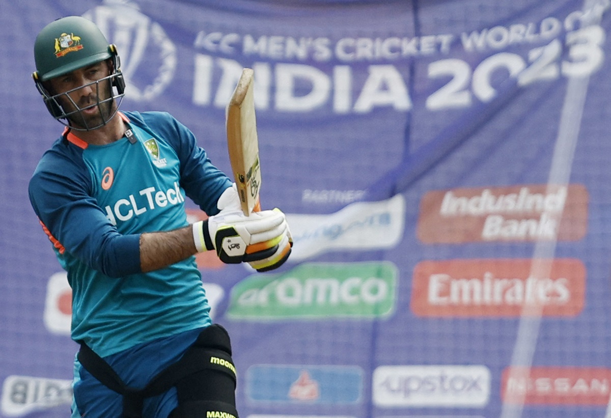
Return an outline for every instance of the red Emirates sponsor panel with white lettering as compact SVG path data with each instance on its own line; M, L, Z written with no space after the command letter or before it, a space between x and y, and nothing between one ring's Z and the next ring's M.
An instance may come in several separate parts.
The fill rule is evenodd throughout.
M419 317L574 317L584 307L577 259L457 259L418 263L411 310Z

